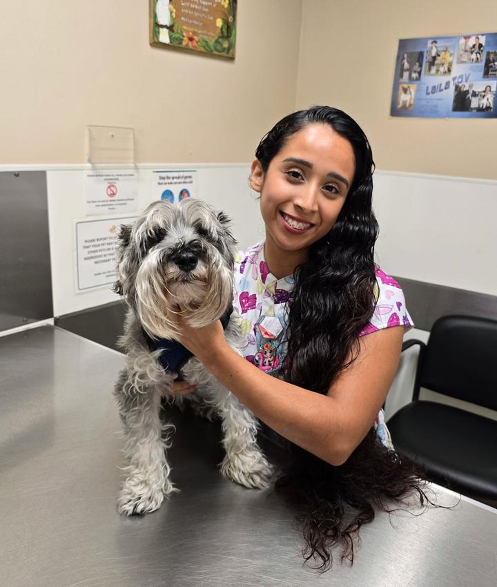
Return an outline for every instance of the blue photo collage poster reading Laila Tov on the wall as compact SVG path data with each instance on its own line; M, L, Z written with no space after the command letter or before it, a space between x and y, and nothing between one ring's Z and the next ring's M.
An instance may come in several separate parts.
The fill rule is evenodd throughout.
M496 118L497 33L401 39L390 114Z

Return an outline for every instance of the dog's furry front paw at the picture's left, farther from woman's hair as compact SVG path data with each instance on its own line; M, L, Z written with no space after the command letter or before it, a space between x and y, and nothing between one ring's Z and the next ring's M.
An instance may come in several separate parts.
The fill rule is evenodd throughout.
M160 508L164 496L177 491L179 490L169 480L165 481L161 488L156 481L128 477L117 498L117 511L126 516L154 512Z

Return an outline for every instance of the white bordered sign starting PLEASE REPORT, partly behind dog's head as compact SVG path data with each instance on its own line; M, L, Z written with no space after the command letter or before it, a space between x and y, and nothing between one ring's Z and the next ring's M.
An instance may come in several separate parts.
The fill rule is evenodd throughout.
M119 225L132 224L135 218L75 222L77 292L95 287L108 287L115 282Z

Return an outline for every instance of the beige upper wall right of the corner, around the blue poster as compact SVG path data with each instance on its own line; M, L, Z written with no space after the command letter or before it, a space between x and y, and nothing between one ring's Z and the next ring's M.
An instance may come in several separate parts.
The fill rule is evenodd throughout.
M494 32L494 0L303 0L296 106L346 110L378 169L497 179L497 119L389 118L398 39ZM494 18L492 18L494 17Z

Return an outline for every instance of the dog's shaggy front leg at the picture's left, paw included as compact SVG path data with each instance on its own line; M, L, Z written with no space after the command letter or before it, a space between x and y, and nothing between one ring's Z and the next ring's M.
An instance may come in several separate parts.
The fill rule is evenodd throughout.
M170 482L166 449L172 424L160 420L161 392L156 387L137 387L137 377L124 369L115 386L119 414L126 435L126 480L117 499L121 514L144 514L160 507L164 495L177 491Z

